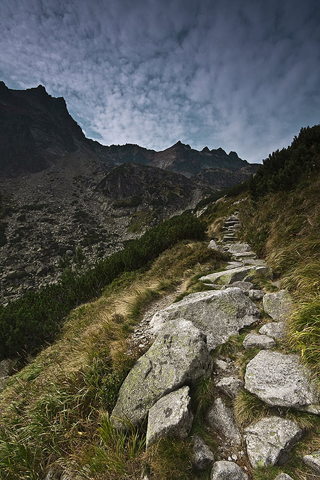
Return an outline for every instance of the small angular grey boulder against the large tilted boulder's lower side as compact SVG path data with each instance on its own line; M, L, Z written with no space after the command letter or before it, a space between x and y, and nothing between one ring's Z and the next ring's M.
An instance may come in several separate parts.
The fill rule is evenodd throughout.
M186 438L193 424L189 387L182 387L163 396L149 410L146 446L159 438Z

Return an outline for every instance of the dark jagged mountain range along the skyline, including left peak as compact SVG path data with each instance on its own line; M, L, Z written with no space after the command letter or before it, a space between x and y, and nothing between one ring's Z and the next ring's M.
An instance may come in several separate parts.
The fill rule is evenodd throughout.
M0 82L0 117L0 173L3 176L42 171L77 151L87 158L103 161L110 169L122 163L138 163L188 178L197 176L203 169L220 169L219 185L214 184L214 171L210 171L210 185L205 176L206 184L213 189L220 188L221 175L230 175L229 184L230 180L234 184L258 167L239 158L236 152L227 154L222 148L209 150L208 147L199 152L180 141L162 152L132 144L101 145L86 139L69 115L64 98L51 97L42 85L11 90ZM238 175L240 170L242 173ZM201 176L197 179L202 181Z

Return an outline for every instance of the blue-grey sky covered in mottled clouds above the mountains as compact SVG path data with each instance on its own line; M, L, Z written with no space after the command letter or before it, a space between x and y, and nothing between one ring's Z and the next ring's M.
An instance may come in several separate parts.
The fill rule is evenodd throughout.
M320 123L319 0L0 0L0 80L88 138L261 162Z

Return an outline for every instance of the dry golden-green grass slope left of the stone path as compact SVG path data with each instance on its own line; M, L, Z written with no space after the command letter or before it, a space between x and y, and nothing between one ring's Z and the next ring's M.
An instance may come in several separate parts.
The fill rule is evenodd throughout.
M219 261L207 243L180 243L149 270L123 274L101 298L69 315L56 342L13 376L1 393L0 424L5 429L0 429L0 472L6 472L5 480L38 480L56 461L64 468L87 468L93 450L90 470L97 472L92 478L111 478L98 466L106 451L101 446L101 418L111 411L127 371L141 355L140 351L127 354L132 326L150 302L199 272L199 263L212 267ZM141 468L141 449L134 450L130 461L127 457L132 442L138 445L143 437L140 433L136 440L127 437L122 453L115 442L115 457L108 454L127 464L128 479L135 478L135 468ZM120 470L112 479L123 478Z

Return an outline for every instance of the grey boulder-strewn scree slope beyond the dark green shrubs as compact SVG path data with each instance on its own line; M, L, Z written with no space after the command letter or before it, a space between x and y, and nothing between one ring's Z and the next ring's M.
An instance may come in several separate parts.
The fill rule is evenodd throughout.
M123 248L147 226L193 208L202 191L184 176L126 164L108 171L86 152L0 182L0 300L55 282Z

